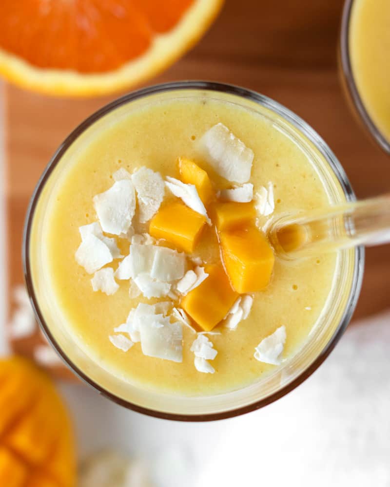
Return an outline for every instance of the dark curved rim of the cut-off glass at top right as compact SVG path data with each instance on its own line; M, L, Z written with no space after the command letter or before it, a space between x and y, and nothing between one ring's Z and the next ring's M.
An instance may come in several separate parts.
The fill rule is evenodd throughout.
M345 0L343 7L343 14L341 18L340 42L339 42L339 59L341 64L342 75L345 80L345 88L347 94L355 108L361 122L366 130L369 132L371 139L379 145L379 147L390 155L390 141L385 138L382 132L378 129L359 94L359 90L355 83L353 75L351 56L350 56L350 22L352 7L355 0Z

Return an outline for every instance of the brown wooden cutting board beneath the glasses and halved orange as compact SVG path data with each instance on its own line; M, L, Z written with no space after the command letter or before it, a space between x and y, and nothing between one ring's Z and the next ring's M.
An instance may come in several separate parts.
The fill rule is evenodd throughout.
M388 191L390 159L371 145L357 126L340 88L336 47L342 4L342 0L227 0L206 37L153 83L210 79L266 94L322 135L346 169L358 197ZM6 87L10 289L22 282L22 225L39 175L65 136L113 98L56 99ZM389 269L389 247L367 251L366 274L354 319L389 305ZM31 355L39 340L37 332L13 345L15 350ZM56 373L63 374L62 368Z

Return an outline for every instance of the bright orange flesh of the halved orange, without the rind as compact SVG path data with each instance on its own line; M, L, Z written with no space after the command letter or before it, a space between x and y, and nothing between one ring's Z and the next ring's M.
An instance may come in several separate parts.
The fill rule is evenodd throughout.
M170 31L195 0L1 0L0 48L39 68L113 71Z

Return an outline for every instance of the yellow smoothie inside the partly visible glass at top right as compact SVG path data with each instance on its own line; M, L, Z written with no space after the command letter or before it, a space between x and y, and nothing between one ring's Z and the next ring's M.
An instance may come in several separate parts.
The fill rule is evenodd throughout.
M349 46L352 74L373 123L390 141L390 2L354 0Z

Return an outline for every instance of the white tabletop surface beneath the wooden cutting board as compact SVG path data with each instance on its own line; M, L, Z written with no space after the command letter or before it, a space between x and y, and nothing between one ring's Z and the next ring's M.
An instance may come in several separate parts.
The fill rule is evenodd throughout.
M1 128L0 120L0 145ZM0 170L2 183L3 164ZM4 244L0 238L2 269ZM2 317L5 298L0 273ZM389 321L388 314L354 325L298 389L260 411L226 421L149 418L85 386L62 383L77 427L79 456L106 448L143 456L160 487L389 487ZM6 351L3 322L0 353Z

